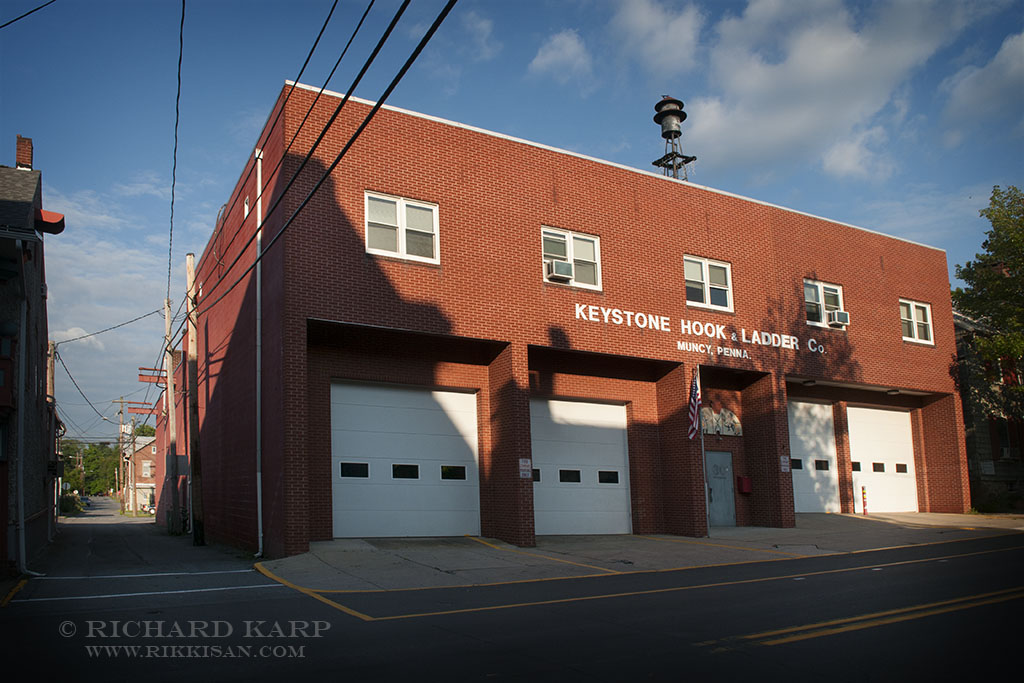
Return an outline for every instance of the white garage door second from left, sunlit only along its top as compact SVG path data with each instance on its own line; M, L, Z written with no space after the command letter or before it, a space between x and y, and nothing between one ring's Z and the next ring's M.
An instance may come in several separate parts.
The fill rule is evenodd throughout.
M529 402L536 531L630 533L626 407Z

